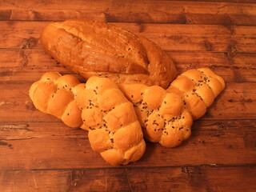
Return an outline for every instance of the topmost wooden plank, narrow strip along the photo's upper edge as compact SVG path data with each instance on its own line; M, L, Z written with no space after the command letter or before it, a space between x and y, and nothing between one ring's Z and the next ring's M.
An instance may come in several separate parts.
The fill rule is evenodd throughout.
M232 1L232 0L231 0ZM0 6L2 7L1 10L4 8L13 9L13 10L31 10L31 9L40 9L40 10L106 10L106 8L110 9L117 9L122 8L125 10L126 8L130 8L131 10L154 10L156 8L161 9L162 11L173 9L172 7L179 7L179 6L186 6L188 10L194 10L194 13L203 12L203 9L210 10L210 13L218 13L216 11L219 9L219 13L236 13L236 14L249 14L254 13L253 9L248 9L246 12L242 12L237 6L246 7L246 8L254 8L254 3L243 3L243 2L255 2L255 0L233 0L234 2L226 2L223 1L202 1L202 0L195 0L195 1L173 1L173 0L128 0L126 2L120 1L104 1L104 0L97 0L97 1L86 1L83 0L74 0L72 2L68 0L62 0L61 2L42 2L40 0L27 0L26 2L17 2L15 0L10 0L8 2L0 2ZM240 1L240 2L239 2ZM154 5L154 7L153 7ZM208 7L207 7L208 6ZM225 6L225 7L222 7ZM142 9L143 8L143 9ZM223 9L224 8L224 9ZM232 9L231 9L232 8ZM109 9L109 10L110 10ZM201 10L200 10L201 9ZM173 11L178 12L178 10L173 9ZM226 12L228 11L228 12Z

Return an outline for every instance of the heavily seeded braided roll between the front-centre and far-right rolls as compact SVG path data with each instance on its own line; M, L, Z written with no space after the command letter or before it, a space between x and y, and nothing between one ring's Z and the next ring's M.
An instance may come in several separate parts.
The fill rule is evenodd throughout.
M134 103L147 141L174 147L190 137L193 120L178 94L167 93L160 86L142 84L122 83L119 88Z

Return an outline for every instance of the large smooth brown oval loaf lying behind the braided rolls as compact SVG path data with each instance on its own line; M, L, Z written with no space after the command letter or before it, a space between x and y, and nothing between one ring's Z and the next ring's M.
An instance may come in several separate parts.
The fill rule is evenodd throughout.
M72 19L50 22L42 46L62 65L84 78L167 88L176 77L170 57L154 42L105 22Z

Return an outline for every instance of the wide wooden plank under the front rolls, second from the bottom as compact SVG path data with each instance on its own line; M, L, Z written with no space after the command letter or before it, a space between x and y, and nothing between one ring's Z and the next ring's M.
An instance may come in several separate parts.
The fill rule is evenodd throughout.
M255 126L255 120L196 121L181 146L147 143L142 159L127 167L255 164ZM60 122L6 122L0 133L0 170L110 167L91 150L85 130Z

